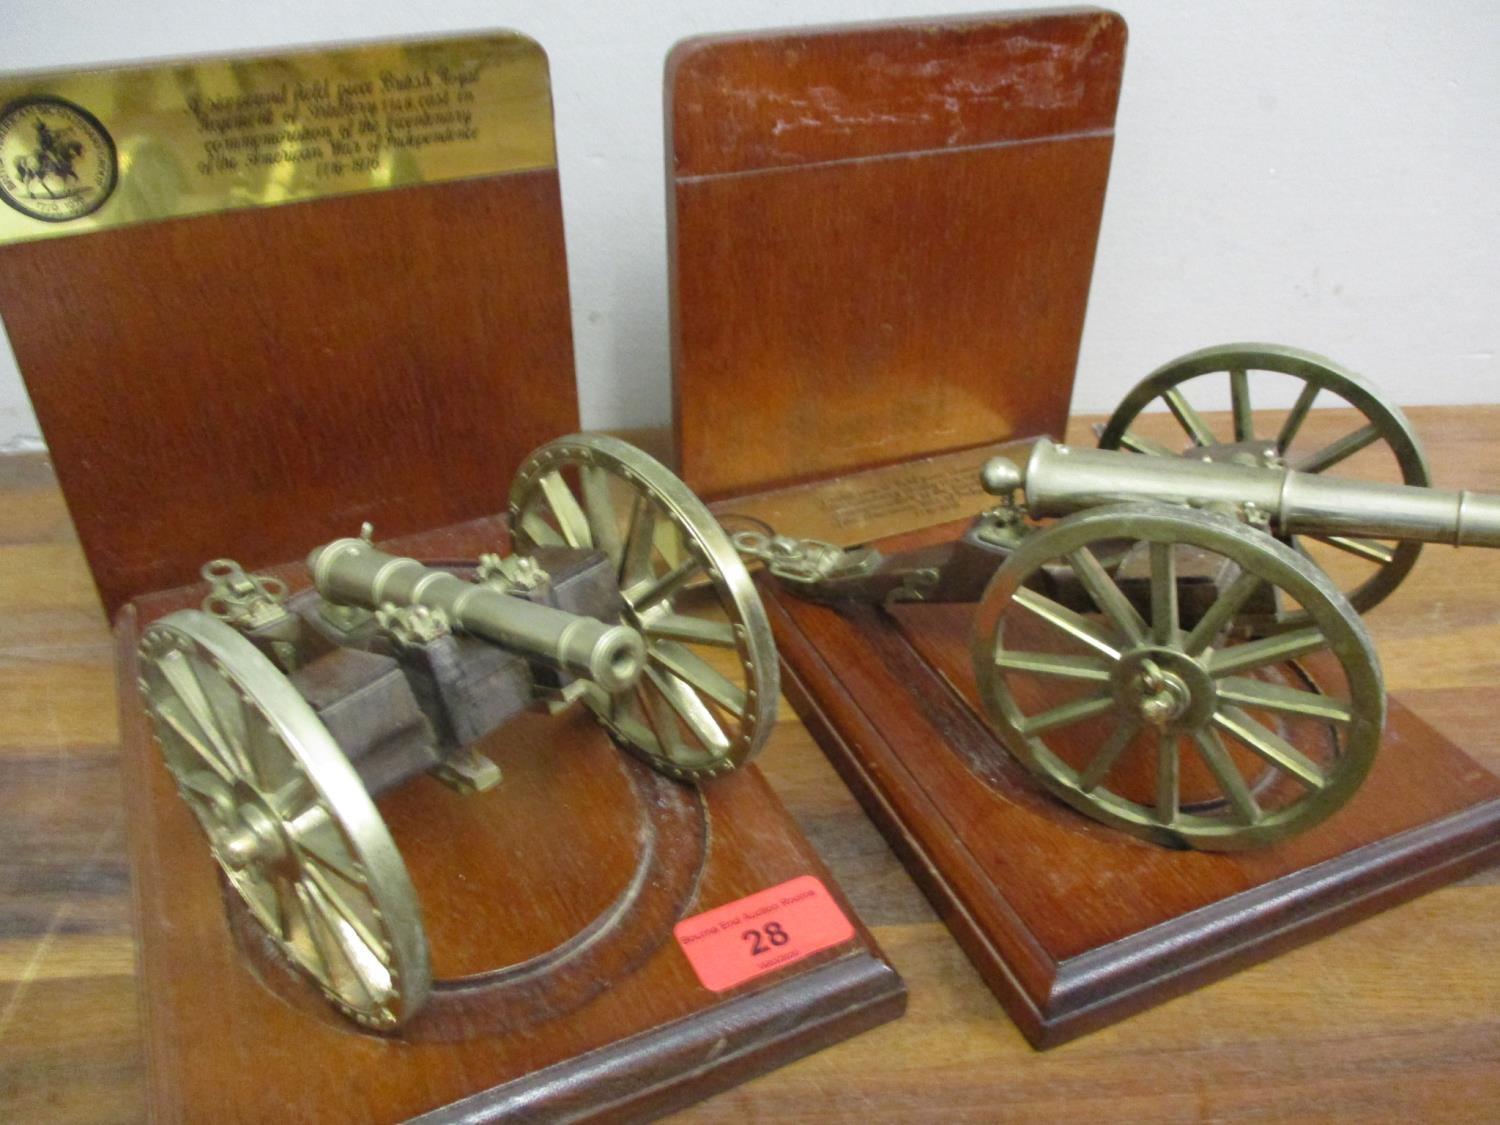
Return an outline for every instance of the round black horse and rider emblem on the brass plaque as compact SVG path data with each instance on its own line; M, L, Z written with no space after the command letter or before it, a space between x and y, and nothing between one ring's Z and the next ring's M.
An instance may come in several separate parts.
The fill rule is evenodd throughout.
M68 222L114 190L114 141L99 118L62 98L27 98L0 111L0 198L42 222Z

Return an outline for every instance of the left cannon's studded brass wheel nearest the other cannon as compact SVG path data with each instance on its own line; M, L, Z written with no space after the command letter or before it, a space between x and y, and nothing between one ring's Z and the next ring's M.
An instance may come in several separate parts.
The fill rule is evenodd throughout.
M584 699L621 744L682 778L750 760L776 722L771 626L729 537L681 480L624 441L560 438L520 466L510 526L520 552L609 556L646 668L630 692Z

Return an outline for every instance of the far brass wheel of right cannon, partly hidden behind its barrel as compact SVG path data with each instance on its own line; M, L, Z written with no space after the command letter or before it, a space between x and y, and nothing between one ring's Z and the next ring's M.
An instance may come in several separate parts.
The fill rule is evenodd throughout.
M1254 374L1257 378L1251 378ZM1280 376L1280 378L1278 378ZM1251 387L1269 398L1272 384L1293 399L1286 418L1257 434ZM1215 432L1192 398L1228 392L1230 430ZM1316 446L1300 441L1302 426L1314 402L1352 406L1364 416L1336 441ZM1179 450L1131 429L1142 412L1162 404L1188 440L1180 456L1210 460L1250 459L1286 465L1304 472L1348 471L1402 484L1431 484L1426 456L1412 423L1365 380L1332 360L1298 348L1270 344L1228 344L1182 356L1167 363L1131 390L1100 435L1100 448L1126 448L1155 456L1179 456ZM1358 462L1353 459L1359 458ZM1384 600L1416 566L1420 543L1354 538L1348 536L1293 537L1292 546L1324 570L1336 573L1344 596L1356 612ZM1264 627L1300 628L1305 615L1281 616Z

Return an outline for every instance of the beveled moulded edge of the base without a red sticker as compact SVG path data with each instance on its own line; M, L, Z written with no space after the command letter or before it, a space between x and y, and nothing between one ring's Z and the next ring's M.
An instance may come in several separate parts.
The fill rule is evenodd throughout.
M1176 996L1269 960L1323 933L1407 902L1500 861L1500 800L1478 801L1452 816L1305 867L1130 938L1056 962L996 894L992 909L1011 930L987 932L966 903L964 882L990 884L958 848L938 856L909 831L886 796L894 784L928 802L915 778L882 764L879 780L843 732L894 747L864 717L837 675L762 582L782 652L782 690L802 724L885 836L954 939L1038 1050L1154 1008ZM939 810L932 810L934 816ZM969 890L968 892L972 892Z

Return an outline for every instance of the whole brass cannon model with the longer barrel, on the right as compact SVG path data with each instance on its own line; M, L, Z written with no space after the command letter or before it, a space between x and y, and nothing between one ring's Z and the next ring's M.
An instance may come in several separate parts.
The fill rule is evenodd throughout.
M1290 410L1257 435L1251 386L1264 394L1275 380ZM1214 388L1227 392L1228 432L1192 404ZM1306 446L1320 396L1358 416ZM1152 400L1180 446L1140 432ZM976 602L972 668L990 724L1052 794L1104 824L1220 850L1318 824L1382 741L1384 687L1360 612L1424 543L1500 546L1500 496L1430 488L1395 406L1324 358L1268 345L1166 364L1100 444L1041 440L1024 468L992 459L981 483L1000 502L952 542L885 556L736 540L810 598ZM1371 465L1398 482L1342 476Z

